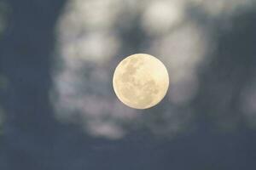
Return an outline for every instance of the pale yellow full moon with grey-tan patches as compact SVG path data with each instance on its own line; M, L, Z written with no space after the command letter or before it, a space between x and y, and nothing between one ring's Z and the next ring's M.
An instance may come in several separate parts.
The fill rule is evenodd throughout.
M123 59L113 73L113 90L119 100L135 109L157 105L166 95L169 76L166 66L149 54Z

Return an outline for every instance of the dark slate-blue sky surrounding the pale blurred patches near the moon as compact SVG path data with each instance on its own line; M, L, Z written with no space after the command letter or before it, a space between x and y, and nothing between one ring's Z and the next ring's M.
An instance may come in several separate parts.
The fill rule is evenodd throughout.
M4 111L1 170L256 168L256 131L247 127L238 107L241 89L253 83L256 72L255 8L234 16L230 31L224 31L218 20L212 26L218 46L211 63L203 66L200 91L190 104L198 113L197 127L191 133L155 139L142 130L112 141L92 138L77 126L61 124L50 105L55 24L66 2L5 2L9 6L7 27L0 37L0 73L8 86L0 91ZM191 14L192 18L200 15L196 11ZM199 18L201 24L207 22ZM137 36L137 29L132 31L133 37L127 41L143 38ZM231 104L224 110L222 99L230 89ZM226 114L224 124L230 117L236 119L236 129L218 131L214 113Z

